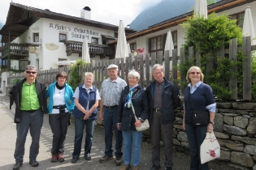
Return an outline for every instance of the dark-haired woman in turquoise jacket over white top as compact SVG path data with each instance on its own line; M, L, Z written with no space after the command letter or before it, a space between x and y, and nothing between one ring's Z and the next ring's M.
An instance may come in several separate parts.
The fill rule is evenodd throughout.
M49 122L53 133L51 161L63 162L67 125L70 125L70 117L75 104L72 87L66 83L67 73L59 71L56 80L47 89Z

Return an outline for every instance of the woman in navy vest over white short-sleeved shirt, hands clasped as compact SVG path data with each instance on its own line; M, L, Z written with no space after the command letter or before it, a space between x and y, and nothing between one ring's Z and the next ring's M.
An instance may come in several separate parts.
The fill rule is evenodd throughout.
M98 89L93 87L93 77L93 73L86 72L85 84L76 87L73 96L76 106L73 111L73 116L75 117L75 141L72 163L76 163L79 159L85 125L85 159L91 159L90 153L93 143L94 123L98 115L98 100L101 99Z

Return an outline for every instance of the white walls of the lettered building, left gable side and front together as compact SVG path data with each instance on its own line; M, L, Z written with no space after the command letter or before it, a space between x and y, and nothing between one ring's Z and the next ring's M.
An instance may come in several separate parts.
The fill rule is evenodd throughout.
M39 33L39 42L33 42L33 33ZM58 68L56 62L60 59L77 60L81 59L78 53L72 53L71 56L67 56L66 45L63 42L59 42L59 33L67 35L67 40L83 42L84 38L87 38L88 43L91 43L92 37L98 38L98 44L102 45L102 35L114 36L114 31L106 30L102 28L93 28L76 23L67 23L63 21L57 21L54 19L38 19L36 23L24 32L23 35L16 38L13 42L16 43L34 43L41 44L37 47L36 53L29 53L29 57L23 57L22 59L30 61L30 64L38 66L39 70L49 70L50 68ZM59 48L50 50L46 48L46 44L58 45ZM91 58L91 60L103 61L108 60L109 57L100 59L99 56Z

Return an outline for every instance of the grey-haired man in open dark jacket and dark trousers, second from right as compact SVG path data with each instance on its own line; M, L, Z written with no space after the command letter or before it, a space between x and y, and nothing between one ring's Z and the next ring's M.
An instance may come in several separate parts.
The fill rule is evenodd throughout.
M165 169L172 169L173 155L173 121L174 110L180 106L180 91L174 83L164 78L164 67L155 64L152 67L154 80L146 87L145 91L150 104L150 135L152 164L150 170L158 170L160 166L160 140L163 136L165 152Z

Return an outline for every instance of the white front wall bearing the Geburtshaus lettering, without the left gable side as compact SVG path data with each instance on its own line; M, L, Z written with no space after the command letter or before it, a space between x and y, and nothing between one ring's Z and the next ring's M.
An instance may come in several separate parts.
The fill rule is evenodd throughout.
M71 56L67 56L66 45L62 42L59 42L59 33L67 34L67 40L78 42L83 42L84 38L87 38L88 43L91 43L92 37L97 37L98 43L100 45L102 45L101 35L114 36L114 31L111 30L93 28L76 23L56 21L53 19L43 19L42 30L43 33L41 36L41 50L43 57L40 58L40 61L42 60L41 62L44 70L50 69L50 67L58 67L55 62L59 62L59 58L67 60L81 59L78 53L72 53ZM50 43L59 45L59 49L46 49L46 44ZM101 61L99 57L93 57L91 59Z

